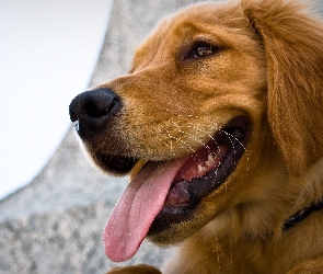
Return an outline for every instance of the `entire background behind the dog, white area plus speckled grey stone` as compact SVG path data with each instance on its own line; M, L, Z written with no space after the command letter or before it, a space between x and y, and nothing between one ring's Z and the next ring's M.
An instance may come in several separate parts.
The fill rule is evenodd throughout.
M128 178L86 162L70 101L127 72L157 22L195 0L0 0L0 273L105 273L102 232ZM160 266L143 242L122 265Z

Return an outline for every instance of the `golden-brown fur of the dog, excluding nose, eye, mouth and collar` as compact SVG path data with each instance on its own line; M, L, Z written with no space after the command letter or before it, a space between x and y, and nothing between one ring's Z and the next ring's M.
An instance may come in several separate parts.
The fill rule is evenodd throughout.
M220 50L183 60L195 41ZM226 183L192 220L150 237L181 242L164 274L323 273L323 210L281 229L323 196L322 21L288 0L188 7L150 34L128 75L96 88L124 100L113 135L142 162L191 153L232 117L251 122L246 151ZM111 150L102 142L85 144L94 160Z

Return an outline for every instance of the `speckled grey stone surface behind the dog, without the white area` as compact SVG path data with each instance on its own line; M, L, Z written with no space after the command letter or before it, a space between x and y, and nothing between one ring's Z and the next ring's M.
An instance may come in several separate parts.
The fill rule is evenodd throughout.
M90 87L126 73L157 22L192 2L116 0ZM102 231L126 184L127 178L92 168L70 129L35 180L0 202L0 273L105 273L114 263L104 254ZM143 243L123 264L160 266L168 253Z

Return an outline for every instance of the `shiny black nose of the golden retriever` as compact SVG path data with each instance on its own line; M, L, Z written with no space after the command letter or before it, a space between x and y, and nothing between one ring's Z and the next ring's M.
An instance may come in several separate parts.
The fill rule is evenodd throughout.
M86 136L102 129L120 109L120 98L112 90L101 88L77 95L70 103L69 114L71 122L78 121L79 134Z

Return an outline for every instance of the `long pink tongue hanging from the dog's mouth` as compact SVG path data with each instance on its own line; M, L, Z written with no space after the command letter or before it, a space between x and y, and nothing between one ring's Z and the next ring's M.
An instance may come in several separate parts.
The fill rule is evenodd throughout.
M105 254L114 262L129 260L163 207L183 161L148 162L128 185L105 226Z

